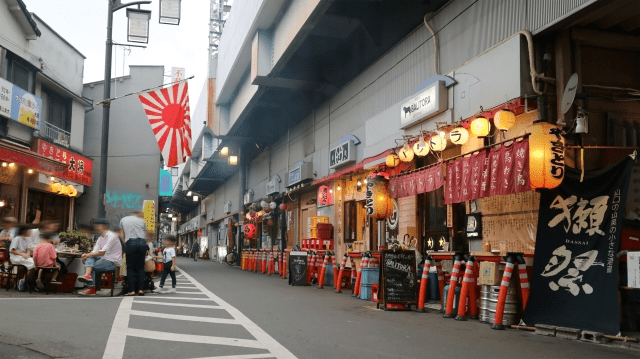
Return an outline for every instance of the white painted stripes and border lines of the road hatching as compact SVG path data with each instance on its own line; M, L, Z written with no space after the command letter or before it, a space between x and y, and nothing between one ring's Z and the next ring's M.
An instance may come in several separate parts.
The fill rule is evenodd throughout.
M177 277L179 277L178 283L180 285L176 287L178 289L179 295L163 293L148 295L145 297L124 297L124 299L122 299L111 328L111 333L109 334L107 347L105 348L103 354L104 359L122 359L125 352L127 337L181 343L206 344L211 345L212 348L215 348L216 345L223 345L232 348L232 350L241 350L239 348L268 350L268 353L239 353L238 355L225 354L225 356L211 358L296 358L291 352L289 352L269 334L258 327L255 323L253 323L238 309L232 307L230 304L213 294L202 284L193 279L190 275L180 270L180 268L178 268L178 271L180 271L180 274L177 275ZM135 309L133 309L134 304ZM173 313L170 314L151 311L151 308L153 306L171 307L171 311ZM226 312L227 317L218 318L175 314L176 309L179 311L181 308L184 308L185 310L189 310L189 308L198 308L207 311L214 310L215 313ZM157 308L155 309L157 310ZM221 326L237 325L244 328L244 330L246 330L246 332L248 332L253 337L253 339L194 334L177 334L149 329L133 328L130 326L130 320L132 316L138 319L140 319L139 317L162 319L164 321L170 321L173 323L193 322L194 324L208 323ZM230 316L231 318L229 318L228 316Z

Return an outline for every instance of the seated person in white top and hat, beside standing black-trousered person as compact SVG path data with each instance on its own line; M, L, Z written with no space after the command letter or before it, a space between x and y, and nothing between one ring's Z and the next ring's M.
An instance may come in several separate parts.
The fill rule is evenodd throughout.
M80 281L88 282L87 290L79 293L83 296L96 295L96 292L100 290L101 276L103 272L113 271L122 262L122 246L120 245L120 239L118 236L109 230L109 220L101 218L95 220L95 229L100 235L98 243L103 243L98 251L85 253L82 255L82 260L87 261L90 258L100 257L93 263L93 273L91 273L91 281L87 281L85 277L78 278ZM86 265L86 264L85 264Z

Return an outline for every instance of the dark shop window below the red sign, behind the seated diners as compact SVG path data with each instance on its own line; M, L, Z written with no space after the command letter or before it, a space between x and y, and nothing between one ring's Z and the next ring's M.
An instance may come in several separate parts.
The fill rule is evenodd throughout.
M61 230L69 224L70 198L52 193L29 190L27 197L27 223L55 221Z

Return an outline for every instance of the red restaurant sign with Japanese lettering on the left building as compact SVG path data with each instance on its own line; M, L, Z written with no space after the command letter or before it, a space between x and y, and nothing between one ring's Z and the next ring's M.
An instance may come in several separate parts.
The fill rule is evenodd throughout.
M66 170L55 176L91 186L93 160L43 140L38 140L38 154L66 165Z

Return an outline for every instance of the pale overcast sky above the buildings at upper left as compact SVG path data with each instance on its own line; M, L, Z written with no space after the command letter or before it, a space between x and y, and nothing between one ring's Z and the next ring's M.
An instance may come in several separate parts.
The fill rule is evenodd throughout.
M132 0L123 2L130 1ZM106 0L24 0L24 2L30 12L38 15L87 58L84 68L85 83L104 79L104 53L107 38ZM142 5L142 8L152 11L147 48L130 47L129 51L115 46L112 76L128 75L129 65L164 65L166 76L170 76L171 67L184 67L187 77L195 76L189 82L193 113L207 76L209 0L183 0L179 26L158 23L159 0L153 0L150 5ZM125 9L114 14L113 40L126 44ZM169 82L171 78L165 77L165 83ZM118 95L124 94L118 93ZM197 132L194 136L197 136Z

